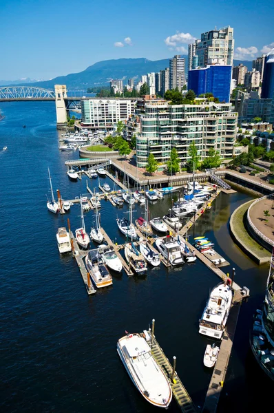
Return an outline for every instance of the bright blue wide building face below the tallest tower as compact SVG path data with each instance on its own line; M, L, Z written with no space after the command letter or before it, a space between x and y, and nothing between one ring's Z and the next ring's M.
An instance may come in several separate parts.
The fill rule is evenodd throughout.
M220 102L229 102L231 84L231 66L212 65L203 69L189 70L188 89L197 96L213 93Z

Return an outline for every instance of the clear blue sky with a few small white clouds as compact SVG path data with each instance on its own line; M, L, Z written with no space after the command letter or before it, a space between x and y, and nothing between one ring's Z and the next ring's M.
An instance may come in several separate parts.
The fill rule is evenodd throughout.
M48 80L108 59L187 54L202 32L230 25L235 59L274 47L274 1L1 0L0 79Z

